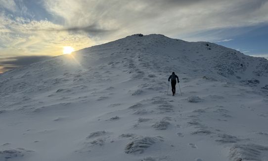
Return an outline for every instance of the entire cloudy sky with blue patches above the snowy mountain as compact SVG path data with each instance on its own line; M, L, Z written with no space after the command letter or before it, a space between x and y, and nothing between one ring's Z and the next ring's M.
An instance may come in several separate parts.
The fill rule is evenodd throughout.
M136 33L268 57L268 0L0 0L0 73Z

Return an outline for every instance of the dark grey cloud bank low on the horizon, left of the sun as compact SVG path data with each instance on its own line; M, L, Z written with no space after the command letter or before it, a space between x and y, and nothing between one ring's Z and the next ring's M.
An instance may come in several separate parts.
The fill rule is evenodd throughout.
M42 61L50 57L51 56L39 56L39 55L8 57L8 58L5 58L4 60L0 60L0 73L9 69L13 69L13 68L25 66L31 63L35 63L38 61Z

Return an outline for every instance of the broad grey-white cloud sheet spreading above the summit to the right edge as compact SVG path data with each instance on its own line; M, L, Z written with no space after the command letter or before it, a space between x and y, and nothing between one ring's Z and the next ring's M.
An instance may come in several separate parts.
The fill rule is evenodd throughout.
M113 38L137 31L179 37L268 22L267 0L45 0L44 4L66 26L119 29Z

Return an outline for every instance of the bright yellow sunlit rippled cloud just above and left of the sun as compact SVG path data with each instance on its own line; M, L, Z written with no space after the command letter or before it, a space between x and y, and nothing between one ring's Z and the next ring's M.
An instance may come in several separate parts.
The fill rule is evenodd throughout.
M63 28L48 20L37 21L0 14L0 53L2 56L59 55L64 46L79 50L95 44L87 34L68 32Z

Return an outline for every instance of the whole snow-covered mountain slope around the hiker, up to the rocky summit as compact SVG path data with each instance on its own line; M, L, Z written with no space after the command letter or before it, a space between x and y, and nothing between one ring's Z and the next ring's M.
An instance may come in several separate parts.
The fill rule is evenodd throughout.
M267 105L267 59L132 35L1 74L0 161L268 161Z

